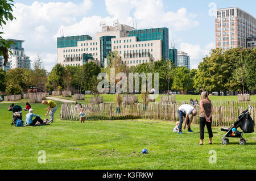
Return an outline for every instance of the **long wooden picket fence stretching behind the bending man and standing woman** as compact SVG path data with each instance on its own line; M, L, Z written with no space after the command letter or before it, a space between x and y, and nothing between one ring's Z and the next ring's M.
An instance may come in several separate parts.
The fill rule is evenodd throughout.
M123 120L123 119L146 119L179 121L177 110L184 102L148 104L135 103L131 105L121 104L120 112L114 103L101 104L62 104L61 120L79 120L80 108L84 108L86 120ZM213 102L213 126L230 126L237 120L238 115L252 106L251 117L256 120L256 102ZM193 123L199 124L200 107L195 107L197 115Z

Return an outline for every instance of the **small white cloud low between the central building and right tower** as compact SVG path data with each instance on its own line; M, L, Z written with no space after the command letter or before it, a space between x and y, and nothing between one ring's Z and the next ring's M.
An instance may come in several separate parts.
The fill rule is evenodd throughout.
M188 53L190 57L191 69L197 69L199 62L203 61L203 57L209 55L210 49L213 47L214 43L209 43L205 48L201 48L200 45L193 45L189 43L181 43L180 50Z

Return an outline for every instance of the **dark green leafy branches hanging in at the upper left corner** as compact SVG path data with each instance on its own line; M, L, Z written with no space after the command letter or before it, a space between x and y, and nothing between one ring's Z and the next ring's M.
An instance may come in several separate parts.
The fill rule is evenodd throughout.
M3 24L6 24L8 20L13 20L15 17L13 16L12 7L14 6L13 0L2 0L0 1L0 26L3 28ZM0 32L0 35L2 35L3 32ZM5 40L2 36L0 36L0 56L3 56L5 61L3 62L3 66L6 66L6 63L9 58L9 53L13 54L9 49L11 47L11 44L14 44L13 41Z

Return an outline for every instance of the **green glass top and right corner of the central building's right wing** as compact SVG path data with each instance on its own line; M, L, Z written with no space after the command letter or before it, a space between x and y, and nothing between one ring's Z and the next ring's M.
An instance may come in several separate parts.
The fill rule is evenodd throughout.
M129 36L137 36L137 41L162 40L162 56L164 60L169 58L169 29L151 28L144 30L133 30Z

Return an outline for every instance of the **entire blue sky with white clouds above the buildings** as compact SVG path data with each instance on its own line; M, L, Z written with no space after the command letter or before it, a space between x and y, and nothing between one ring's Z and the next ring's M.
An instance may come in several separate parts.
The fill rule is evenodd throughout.
M256 17L255 0L14 0L16 20L3 26L3 37L25 40L23 47L32 61L38 54L51 71L57 63L56 38L90 35L115 19L137 29L169 28L169 41L191 57L191 68L215 48L214 9L239 7Z

